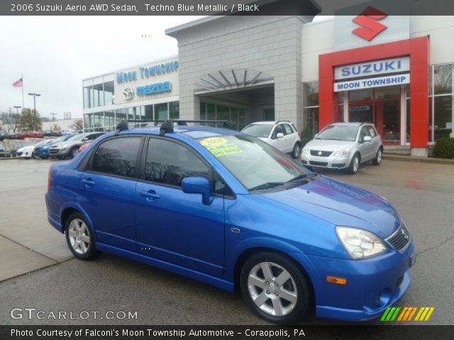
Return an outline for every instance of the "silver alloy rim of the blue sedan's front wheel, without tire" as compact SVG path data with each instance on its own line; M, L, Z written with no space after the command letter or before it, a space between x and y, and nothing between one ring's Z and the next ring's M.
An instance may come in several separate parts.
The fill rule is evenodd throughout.
M254 266L248 276L248 290L255 305L272 316L287 315L297 305L297 285L289 271L277 263Z

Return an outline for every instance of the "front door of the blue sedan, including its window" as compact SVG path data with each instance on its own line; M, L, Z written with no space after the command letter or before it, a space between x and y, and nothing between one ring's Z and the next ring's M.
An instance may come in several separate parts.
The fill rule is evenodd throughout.
M204 205L182 191L189 176L211 178L211 168L187 145L166 137L145 142L135 189L138 252L215 276L223 274L223 197Z

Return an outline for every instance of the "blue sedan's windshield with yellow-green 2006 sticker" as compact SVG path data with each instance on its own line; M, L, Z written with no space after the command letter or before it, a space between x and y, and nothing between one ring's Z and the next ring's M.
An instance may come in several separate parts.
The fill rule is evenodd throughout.
M274 147L248 135L199 138L198 141L249 191L301 185L311 174Z

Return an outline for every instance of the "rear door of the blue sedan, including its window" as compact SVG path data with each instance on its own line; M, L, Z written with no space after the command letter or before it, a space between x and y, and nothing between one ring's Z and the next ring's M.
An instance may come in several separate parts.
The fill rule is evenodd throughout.
M134 195L143 139L122 135L102 141L80 176L79 204L92 220L96 242L136 249Z

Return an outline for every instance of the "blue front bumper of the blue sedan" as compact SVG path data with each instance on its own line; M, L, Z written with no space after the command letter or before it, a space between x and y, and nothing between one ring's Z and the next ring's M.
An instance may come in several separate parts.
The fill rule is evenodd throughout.
M414 245L402 251L363 260L329 259L306 255L314 285L316 316L329 319L362 321L380 317L387 307L405 295L411 283ZM326 276L347 279L346 285L326 282Z

